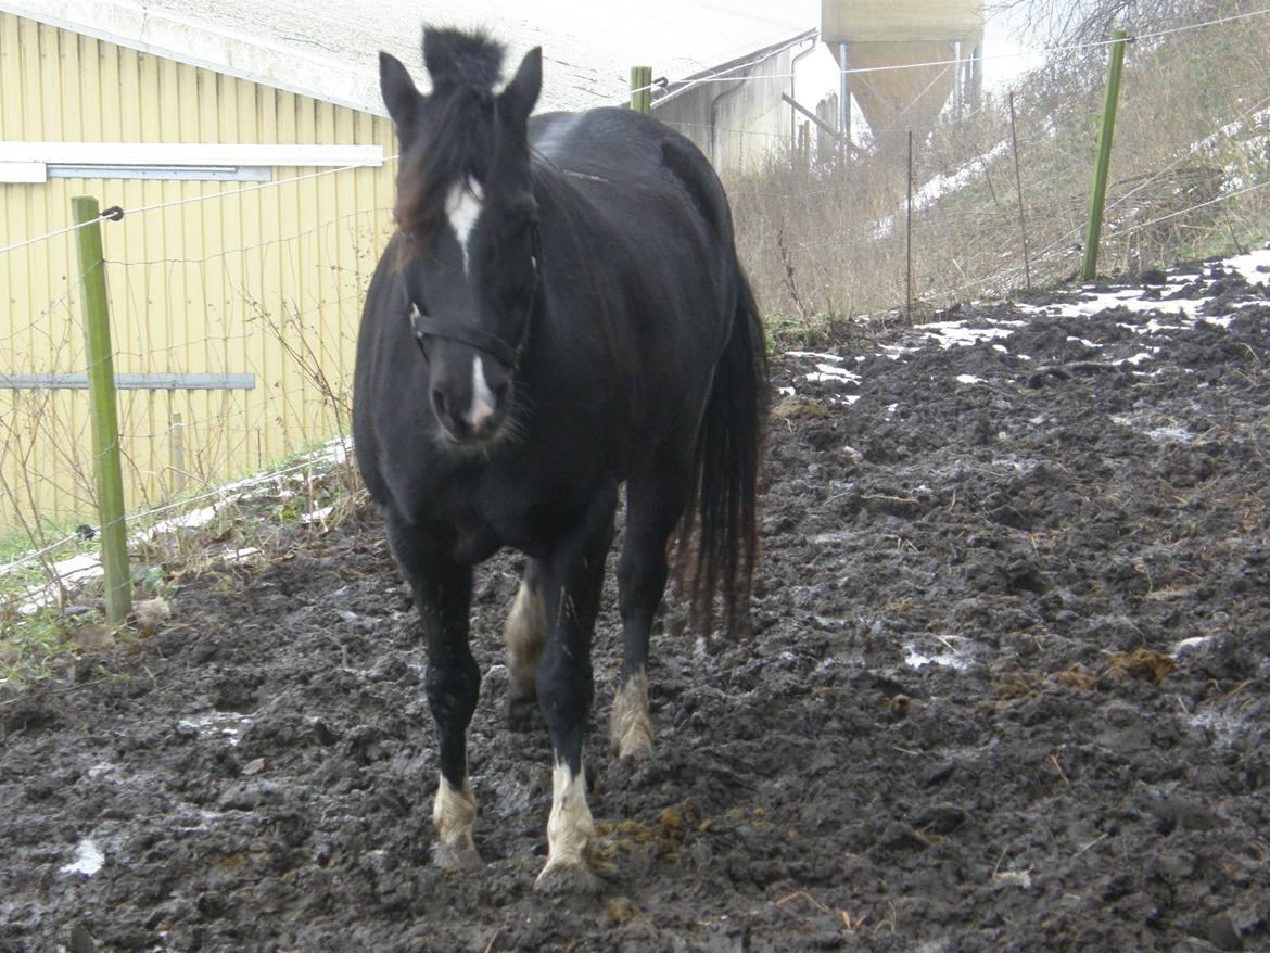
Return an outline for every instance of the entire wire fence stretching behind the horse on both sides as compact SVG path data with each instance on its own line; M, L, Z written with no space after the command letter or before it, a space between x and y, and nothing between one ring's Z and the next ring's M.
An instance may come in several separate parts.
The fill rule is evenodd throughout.
M1256 64L1270 55L1270 41L1265 30L1260 41L1233 34L1247 34L1247 23L1264 23L1257 18L1267 13L1140 34L1152 43L1134 50L1126 69L1106 268L1142 269L1213 241L1264 238L1270 95ZM1185 46L1200 29L1227 44L1219 81L1204 84L1203 108L1184 93L1161 102L1165 88L1200 86L1179 78L1215 69ZM711 81L738 80L686 80ZM761 174L728 182L742 257L770 324L803 339L829 333L847 316L893 309L908 281L928 308L1008 291L1022 282L1024 238L1036 281L1073 273L1100 89L1034 76L1016 91L1013 128L997 95L978 111L946 111L930 136L918 137L913 274L903 253L909 183L889 144L879 140L843 163L832 139L822 145L815 130L800 149L786 131L710 126L711 135L748 137L773 156ZM798 127L800 117L782 117L782 130L791 121ZM347 432L357 321L391 227L391 196L363 182L353 198L328 206L302 189L325 177L366 174L345 166L159 199L154 191L135 192L122 222L103 221L117 374L204 379L198 389L119 393L130 510L163 518L174 506L215 498L229 479ZM268 225L249 224L257 220L245 213L249 203L268 211ZM43 234L0 247L0 280L10 287L50 287L55 276L46 300L27 292L10 308L9 325L0 327L0 375L69 379L84 370L76 276L67 264L76 227L51 222ZM0 390L0 526L25 531L36 548L22 564L39 564L75 545L67 521L94 518L86 402L79 390L25 386Z

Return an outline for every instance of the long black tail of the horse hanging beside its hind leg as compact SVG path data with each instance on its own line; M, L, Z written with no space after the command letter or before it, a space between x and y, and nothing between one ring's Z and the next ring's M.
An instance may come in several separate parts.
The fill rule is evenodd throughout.
M739 264L737 280L737 310L697 432L692 496L678 553L693 621L709 632L715 600L721 597L729 635L742 629L749 615L768 394L763 325Z

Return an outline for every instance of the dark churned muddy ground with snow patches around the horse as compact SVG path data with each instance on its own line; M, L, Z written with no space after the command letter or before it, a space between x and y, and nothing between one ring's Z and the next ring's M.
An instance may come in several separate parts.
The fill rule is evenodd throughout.
M776 363L754 632L665 614L644 764L603 743L610 586L599 900L532 891L512 557L475 598L489 865L431 865L424 659L363 513L168 567L151 635L0 691L0 949L1270 949L1270 301L1199 271ZM1166 308L1201 296L1228 327Z

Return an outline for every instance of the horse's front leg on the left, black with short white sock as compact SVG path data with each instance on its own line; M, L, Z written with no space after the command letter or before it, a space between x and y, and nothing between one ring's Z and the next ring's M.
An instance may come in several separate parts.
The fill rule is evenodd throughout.
M418 527L391 516L389 540L398 565L414 590L428 670L424 690L437 723L441 778L432 806L438 867L471 870L481 865L472 841L476 801L467 783L467 726L480 694L480 668L467 644L472 573L429 545Z

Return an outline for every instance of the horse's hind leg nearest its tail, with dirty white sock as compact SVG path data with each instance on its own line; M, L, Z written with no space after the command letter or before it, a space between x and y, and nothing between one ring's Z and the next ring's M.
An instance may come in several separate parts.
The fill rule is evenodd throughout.
M664 457L658 461L663 468ZM688 478L674 468L632 476L626 484L626 539L617 564L622 667L613 695L608 741L618 757L653 752L648 713L648 642L669 576L667 544L683 513Z

